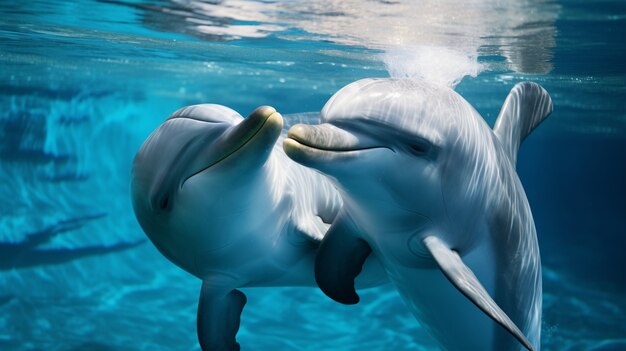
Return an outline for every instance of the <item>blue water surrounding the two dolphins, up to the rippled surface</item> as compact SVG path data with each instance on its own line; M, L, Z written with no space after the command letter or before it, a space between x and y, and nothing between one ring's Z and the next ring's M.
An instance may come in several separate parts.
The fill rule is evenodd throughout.
M515 83L550 92L518 167L542 348L626 350L625 40L619 0L0 1L0 350L199 349L200 282L145 241L129 199L136 150L174 110L315 112L354 80L433 72L465 75L490 123ZM245 293L244 350L437 349L390 286L356 306Z

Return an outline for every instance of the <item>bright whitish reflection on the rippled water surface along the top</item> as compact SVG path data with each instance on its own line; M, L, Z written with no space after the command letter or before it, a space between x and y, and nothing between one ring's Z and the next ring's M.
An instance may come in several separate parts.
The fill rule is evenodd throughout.
M203 40L275 35L379 50L443 47L468 57L504 58L487 69L539 74L552 70L560 13L560 5L542 0L105 1L140 9L149 28Z

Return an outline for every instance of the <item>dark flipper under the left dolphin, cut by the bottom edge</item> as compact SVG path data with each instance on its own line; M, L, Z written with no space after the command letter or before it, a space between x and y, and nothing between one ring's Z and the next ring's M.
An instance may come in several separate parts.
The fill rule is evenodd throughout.
M239 290L225 293L202 282L198 304L198 340L203 351L238 351L235 336L246 295Z

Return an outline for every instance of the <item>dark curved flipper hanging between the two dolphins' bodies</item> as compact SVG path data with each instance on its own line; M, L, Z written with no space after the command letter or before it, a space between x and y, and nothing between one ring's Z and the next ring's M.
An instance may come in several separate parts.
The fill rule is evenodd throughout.
M315 281L331 299L353 305L359 302L354 279L361 273L372 252L363 239L352 234L353 228L340 218L328 229L315 257Z

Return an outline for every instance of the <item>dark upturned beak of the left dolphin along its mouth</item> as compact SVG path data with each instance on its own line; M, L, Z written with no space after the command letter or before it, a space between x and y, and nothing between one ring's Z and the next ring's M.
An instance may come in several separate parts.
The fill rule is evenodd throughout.
M181 188L193 176L206 171L207 169L216 166L223 161L227 160L230 156L235 154L237 151L244 149L251 142L257 139L257 136L261 134L272 135L276 134L273 138L269 137L268 142L278 137L280 131L283 128L283 118L274 109L270 106L261 106L254 110L246 119L244 119L238 125L233 126L230 130L224 133L217 142L224 145L219 150L211 150L207 152L208 157L203 157L205 159L209 159L210 161L205 163L203 167L191 173L191 175L187 176L185 180L181 183ZM276 133L264 133L264 131L274 130ZM269 140L271 139L271 140Z

